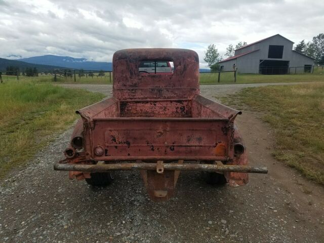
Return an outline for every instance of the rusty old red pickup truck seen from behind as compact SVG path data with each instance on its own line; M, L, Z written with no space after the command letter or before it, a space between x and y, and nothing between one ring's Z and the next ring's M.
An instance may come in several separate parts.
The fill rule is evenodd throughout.
M154 201L173 196L183 170L230 186L247 184L248 173L267 173L248 165L234 124L241 112L199 95L194 51L115 52L112 94L76 111L81 118L55 170L94 186L109 184L112 171L138 170Z

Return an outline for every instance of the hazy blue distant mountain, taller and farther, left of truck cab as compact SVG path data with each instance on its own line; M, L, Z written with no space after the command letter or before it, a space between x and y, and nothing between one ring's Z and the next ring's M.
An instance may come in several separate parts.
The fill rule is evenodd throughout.
M73 58L73 57L63 57L63 56L55 56L55 55L22 58L19 59L19 61L35 63L35 64L61 66L61 67L71 68L71 69L105 70L105 71L112 70L111 62L92 62L92 61L87 61L87 59L85 58Z

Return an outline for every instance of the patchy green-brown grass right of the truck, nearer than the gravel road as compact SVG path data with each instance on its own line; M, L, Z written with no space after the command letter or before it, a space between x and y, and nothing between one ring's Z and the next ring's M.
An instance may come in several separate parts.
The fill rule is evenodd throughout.
M228 101L262 112L275 158L324 185L324 83L248 88Z

